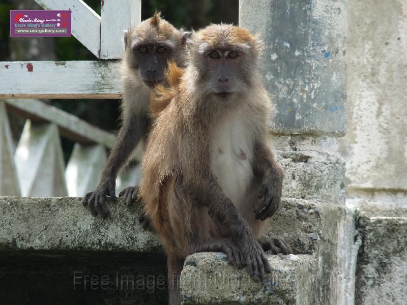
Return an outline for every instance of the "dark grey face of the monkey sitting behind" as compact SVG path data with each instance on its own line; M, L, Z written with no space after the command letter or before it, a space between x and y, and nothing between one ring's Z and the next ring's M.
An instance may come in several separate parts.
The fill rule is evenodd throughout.
M164 71L168 60L172 59L173 50L165 44L135 44L133 55L138 63L139 73L144 84L153 88L164 81Z

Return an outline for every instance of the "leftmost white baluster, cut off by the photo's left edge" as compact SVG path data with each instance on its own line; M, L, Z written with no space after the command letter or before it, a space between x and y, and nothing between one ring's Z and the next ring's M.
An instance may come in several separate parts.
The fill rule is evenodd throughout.
M14 143L4 102L0 102L0 196L20 196L14 166Z

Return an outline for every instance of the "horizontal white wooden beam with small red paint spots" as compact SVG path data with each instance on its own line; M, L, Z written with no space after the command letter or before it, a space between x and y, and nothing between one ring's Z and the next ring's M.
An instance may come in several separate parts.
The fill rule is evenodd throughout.
M119 99L118 62L0 62L0 98Z

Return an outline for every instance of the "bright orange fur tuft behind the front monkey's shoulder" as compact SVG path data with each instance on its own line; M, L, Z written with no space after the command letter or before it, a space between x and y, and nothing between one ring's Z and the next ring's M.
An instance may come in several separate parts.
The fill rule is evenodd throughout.
M153 118L157 118L177 95L184 72L185 69L180 68L175 62L168 63L165 71L165 80L168 85L156 86L151 94L150 113Z

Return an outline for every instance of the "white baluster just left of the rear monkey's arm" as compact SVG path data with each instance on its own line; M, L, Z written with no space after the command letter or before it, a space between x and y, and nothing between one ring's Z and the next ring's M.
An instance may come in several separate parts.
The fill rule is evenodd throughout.
M96 189L106 164L106 149L102 145L76 143L65 170L68 195L82 197Z

